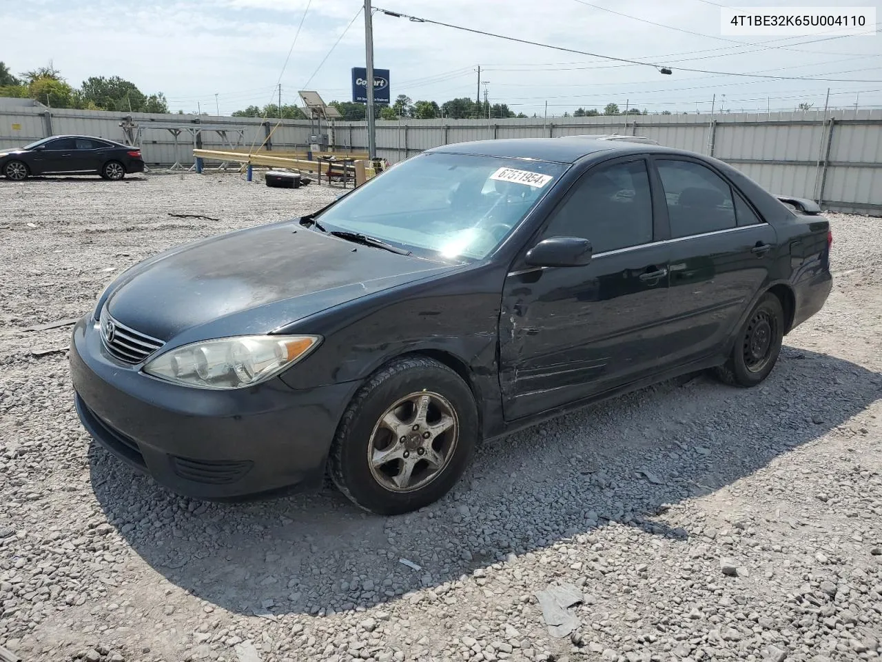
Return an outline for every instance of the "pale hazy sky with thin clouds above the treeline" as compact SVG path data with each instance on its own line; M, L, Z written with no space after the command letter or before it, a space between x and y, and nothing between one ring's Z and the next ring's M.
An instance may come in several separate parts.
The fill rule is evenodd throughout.
M853 107L859 97L862 108L882 107L882 37L801 43L820 37L770 41L775 38L723 36L717 0L590 1L609 11L579 0L374 1L384 9L572 49L648 59L674 69L673 75L662 76L647 66L622 66L377 14L375 63L391 70L393 96L438 102L474 97L474 70L480 64L490 101L506 102L529 115L542 114L546 101L549 115L572 113L579 106L602 109L608 102L624 107L626 101L650 112L708 112L714 94L717 109L722 102L733 111L792 110L799 102L823 107L827 87L832 88L833 106ZM172 110L190 112L201 106L214 112L218 94L217 107L228 114L274 101L282 64L308 2L0 0L0 60L18 72L51 59L74 86L90 75L119 75L146 93L163 92ZM281 77L283 102L299 103L296 92L310 77L310 89L325 101L348 100L349 70L364 64L362 15L325 64L318 65L360 6L359 0L312 0ZM677 71L677 64L870 82L764 81Z

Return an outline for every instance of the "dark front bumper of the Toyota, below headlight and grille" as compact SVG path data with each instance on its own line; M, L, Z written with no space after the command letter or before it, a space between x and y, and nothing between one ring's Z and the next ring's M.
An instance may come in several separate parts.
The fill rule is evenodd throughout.
M110 356L92 315L71 337L80 421L112 454L176 493L236 499L321 485L347 382L294 390L274 379L230 391L154 379Z

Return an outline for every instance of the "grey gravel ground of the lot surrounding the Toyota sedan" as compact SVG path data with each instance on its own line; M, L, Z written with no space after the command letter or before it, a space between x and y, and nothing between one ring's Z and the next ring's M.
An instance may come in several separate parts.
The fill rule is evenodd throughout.
M70 329L23 329L85 313L161 249L336 194L0 182L0 645L88 662L882 654L879 219L829 214L833 294L761 387L693 376L487 444L415 514L331 490L206 504L91 446ZM542 621L549 584L577 588L570 636Z

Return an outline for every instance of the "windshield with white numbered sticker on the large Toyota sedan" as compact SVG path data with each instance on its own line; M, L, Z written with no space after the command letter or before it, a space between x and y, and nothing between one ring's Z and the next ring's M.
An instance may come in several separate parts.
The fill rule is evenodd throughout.
M421 257L481 260L502 243L566 166L472 154L420 154L316 216L325 229L399 245Z

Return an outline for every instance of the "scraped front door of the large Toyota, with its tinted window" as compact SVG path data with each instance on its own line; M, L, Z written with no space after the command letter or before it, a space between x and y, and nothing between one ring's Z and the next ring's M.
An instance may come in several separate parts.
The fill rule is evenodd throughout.
M660 195L661 192L656 192ZM583 237L583 267L525 268L505 279L499 320L505 418L513 420L655 372L668 305L667 244L658 241L642 156L589 170L530 245Z

